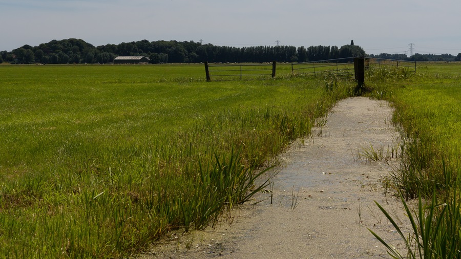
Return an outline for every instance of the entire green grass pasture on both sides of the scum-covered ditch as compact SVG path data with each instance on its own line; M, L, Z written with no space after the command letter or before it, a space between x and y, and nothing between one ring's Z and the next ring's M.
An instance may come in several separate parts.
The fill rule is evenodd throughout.
M410 258L460 256L459 72L428 62L365 77L402 132L395 193L421 199L402 236ZM213 225L354 89L291 64L244 79L206 82L203 64L0 66L0 256L123 257Z

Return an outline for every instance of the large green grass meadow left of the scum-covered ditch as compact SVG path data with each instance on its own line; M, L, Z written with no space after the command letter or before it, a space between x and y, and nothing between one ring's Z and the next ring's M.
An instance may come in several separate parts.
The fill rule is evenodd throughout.
M264 168L353 89L278 75L0 66L0 256L123 257L253 202Z

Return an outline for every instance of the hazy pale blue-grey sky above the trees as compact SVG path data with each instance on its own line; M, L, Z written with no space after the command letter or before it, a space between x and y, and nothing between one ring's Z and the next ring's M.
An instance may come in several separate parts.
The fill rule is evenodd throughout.
M459 0L0 0L0 51L79 38L461 52Z

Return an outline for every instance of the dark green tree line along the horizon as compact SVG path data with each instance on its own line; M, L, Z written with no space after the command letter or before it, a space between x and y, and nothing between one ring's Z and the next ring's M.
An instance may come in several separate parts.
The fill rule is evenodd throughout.
M459 60L457 57L444 54L405 54L367 55L353 40L340 48L337 46L256 46L228 47L201 44L194 41L176 40L139 40L122 42L118 45L107 44L94 47L82 39L51 40L32 47L24 45L13 51L0 51L0 63L110 63L117 56L146 56L151 63L196 63L196 62L305 62L326 59L347 58L353 56L369 56L412 61Z

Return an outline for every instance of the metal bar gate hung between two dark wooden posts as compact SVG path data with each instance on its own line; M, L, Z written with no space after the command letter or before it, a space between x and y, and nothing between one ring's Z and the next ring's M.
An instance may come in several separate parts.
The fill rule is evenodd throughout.
M212 77L276 76L276 62L271 64L209 64L205 62L206 81Z

